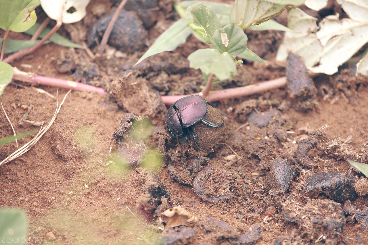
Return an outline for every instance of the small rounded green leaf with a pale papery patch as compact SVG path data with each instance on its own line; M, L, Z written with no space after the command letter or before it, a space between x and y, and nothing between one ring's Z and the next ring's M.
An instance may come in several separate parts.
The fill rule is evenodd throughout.
M230 56L235 56L245 51L247 41L248 38L243 29L232 23L215 31L212 46L220 53L227 52Z

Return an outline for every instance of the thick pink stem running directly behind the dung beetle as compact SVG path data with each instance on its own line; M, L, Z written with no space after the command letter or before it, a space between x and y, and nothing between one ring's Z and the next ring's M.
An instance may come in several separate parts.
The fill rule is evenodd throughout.
M214 102L224 99L232 99L242 96L254 95L255 93L261 93L267 90L281 88L286 86L286 77L280 77L266 82L260 82L258 84L252 84L239 88L223 89L218 91L211 91L207 97L209 102ZM201 95L201 93L195 93L195 95ZM178 99L188 95L164 95L161 96L162 101L166 105L172 105Z

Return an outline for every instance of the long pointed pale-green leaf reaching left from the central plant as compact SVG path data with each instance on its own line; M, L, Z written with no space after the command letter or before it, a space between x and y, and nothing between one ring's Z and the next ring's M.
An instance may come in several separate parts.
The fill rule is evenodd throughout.
M192 21L190 19L179 19L162 33L152 44L147 52L134 65L138 65L145 58L164 51L172 51L185 43L191 34L191 28L188 26Z

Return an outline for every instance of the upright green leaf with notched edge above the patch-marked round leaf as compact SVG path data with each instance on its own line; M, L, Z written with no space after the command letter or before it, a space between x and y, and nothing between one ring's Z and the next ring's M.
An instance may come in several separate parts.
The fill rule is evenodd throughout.
M206 35L203 37L208 44L212 43L213 33L219 28L222 28L221 22L215 11L203 5L196 3L187 8L187 15L192 15L194 24L202 26Z

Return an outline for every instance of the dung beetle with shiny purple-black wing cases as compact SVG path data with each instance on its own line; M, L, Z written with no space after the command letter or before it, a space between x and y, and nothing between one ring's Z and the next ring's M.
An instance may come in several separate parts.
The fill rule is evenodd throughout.
M167 127L169 128L171 136L183 136L187 141L188 133L190 133L198 146L197 137L191 126L202 121L202 123L210 127L221 127L224 122L217 125L204 119L208 113L208 105L216 108L213 104L199 95L190 95L177 100L170 106L166 117Z

